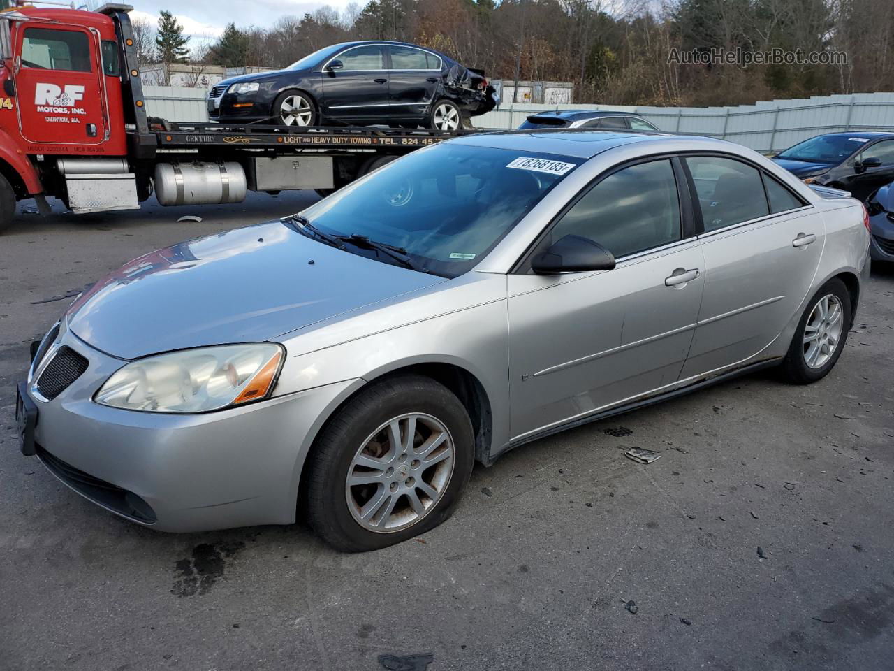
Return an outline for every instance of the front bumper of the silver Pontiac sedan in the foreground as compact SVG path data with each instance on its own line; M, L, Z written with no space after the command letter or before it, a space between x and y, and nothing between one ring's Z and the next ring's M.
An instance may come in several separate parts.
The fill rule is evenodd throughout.
M91 399L123 361L71 332L57 341L89 360L38 405L38 458L81 496L159 531L295 521L301 467L322 418L352 381L203 414L109 408Z

